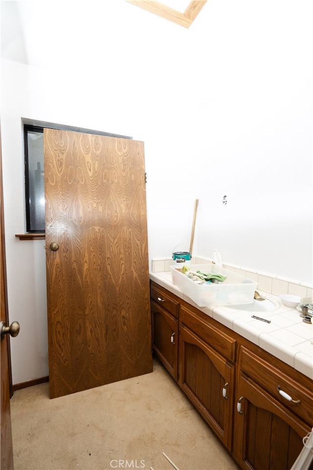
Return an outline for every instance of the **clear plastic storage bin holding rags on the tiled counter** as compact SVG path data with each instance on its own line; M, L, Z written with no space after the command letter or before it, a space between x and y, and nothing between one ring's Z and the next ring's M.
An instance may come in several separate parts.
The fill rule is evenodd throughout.
M226 276L221 283L204 283L189 279L182 274L182 266L170 266L172 281L182 292L190 297L200 307L208 305L242 305L252 304L257 282L240 276L239 274L224 269L217 264L191 264L190 271L202 271L204 273L222 274Z

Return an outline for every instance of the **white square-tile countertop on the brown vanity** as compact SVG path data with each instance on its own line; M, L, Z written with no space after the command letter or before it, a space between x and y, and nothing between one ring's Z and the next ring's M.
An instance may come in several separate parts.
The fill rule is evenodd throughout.
M150 279L313 379L313 325L304 323L299 311L284 305L277 295L257 289L262 297L275 305L274 310L262 313L228 305L200 307L172 282L170 271L150 272ZM270 323L253 319L251 315L261 316Z

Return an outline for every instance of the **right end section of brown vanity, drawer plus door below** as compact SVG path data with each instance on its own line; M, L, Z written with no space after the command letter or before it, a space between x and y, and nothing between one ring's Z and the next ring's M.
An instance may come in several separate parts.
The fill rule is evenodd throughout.
M294 402L282 397L277 386ZM236 401L233 456L241 468L289 470L311 431L312 394L241 347Z

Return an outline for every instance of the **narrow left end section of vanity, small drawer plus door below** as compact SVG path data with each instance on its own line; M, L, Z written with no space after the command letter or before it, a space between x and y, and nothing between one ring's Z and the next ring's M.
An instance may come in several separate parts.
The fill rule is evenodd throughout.
M151 282L152 347L171 376L178 380L179 302Z

